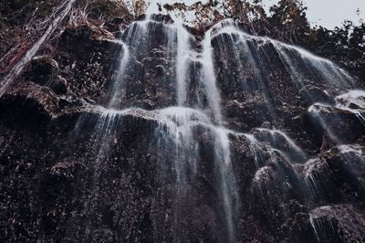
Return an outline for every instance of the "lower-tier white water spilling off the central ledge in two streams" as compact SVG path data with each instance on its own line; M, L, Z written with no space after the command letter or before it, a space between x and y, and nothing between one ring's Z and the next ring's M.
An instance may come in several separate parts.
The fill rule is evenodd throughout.
M225 224L230 239L234 238L234 202L238 200L235 188L235 176L232 171L230 142L228 134L230 131L221 127L215 127L202 111L185 108L170 107L159 111L162 116L167 116L172 123L165 136L174 138L177 145L177 160L175 170L177 173L177 183L182 185L188 182L186 165L189 165L193 173L196 173L198 160L199 143L193 138L193 128L203 126L214 133L214 161L218 167L219 193L223 200ZM164 119L166 121L166 119ZM172 125L171 125L172 124ZM190 157L192 156L192 157Z

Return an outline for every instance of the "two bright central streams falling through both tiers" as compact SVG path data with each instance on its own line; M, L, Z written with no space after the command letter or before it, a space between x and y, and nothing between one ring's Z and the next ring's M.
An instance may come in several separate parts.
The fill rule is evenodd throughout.
M215 143L214 143L214 160L219 170L220 178L220 194L223 199L225 223L230 240L234 238L234 226L233 226L233 204L236 195L234 175L232 173L231 154L230 154L230 142L228 139L228 132L222 128L222 112L220 107L220 94L216 87L216 78L214 72L214 61L213 61L213 48L212 48L212 31L208 31L203 39L203 53L202 58L199 58L203 65L203 72L200 77L203 83L203 89L208 100L209 108L212 111L211 117L214 122L218 124L215 127L211 120L203 114L201 111L196 111L187 108L169 108L162 111L167 114L173 122L177 124L174 134L177 144L180 146L189 147L189 144L193 144L196 148L197 143L193 140L193 126L199 123L203 123L214 132ZM176 27L176 33L178 38L177 43L177 60L176 60L176 96L177 105L186 105L186 94L187 94L187 69L189 62L195 58L190 48L190 34L183 28L183 26ZM183 156L177 159L176 170L178 172L178 182L182 182L186 178L185 172L182 170L182 159L186 160ZM196 159L195 159L196 160ZM194 162L193 168L196 168L196 162ZM195 169L196 170L196 169Z

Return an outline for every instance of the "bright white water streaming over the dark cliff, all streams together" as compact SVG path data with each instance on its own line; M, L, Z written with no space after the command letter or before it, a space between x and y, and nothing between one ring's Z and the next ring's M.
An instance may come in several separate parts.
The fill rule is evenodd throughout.
M153 26L162 26L166 38L167 38L167 51L165 58L175 59L175 105L166 107L160 110L143 111L139 109L128 109L124 111L115 111L112 108L117 107L119 104L118 98L123 96L121 92L124 85L124 75L129 71L129 60L131 53L141 51L146 48L149 43L149 37L153 35ZM212 42L215 37L220 38L221 35L229 35L231 42L235 45L235 48L241 48L241 51L247 53L247 57L253 66L255 66L255 72L260 71L260 61L257 61L254 57L258 55L263 57L266 55L262 45L270 44L278 53L278 56L285 63L293 79L301 77L300 70L297 65L297 58L302 63L307 63L308 66L318 71L318 73L326 79L329 83L334 85L339 84L339 80L346 79L351 82L348 74L339 69L332 62L318 58L307 51L290 46L276 40L267 37L254 37L245 32L240 31L235 27L232 20L225 20L208 30L201 42L202 50L196 50L192 48L193 36L185 29L180 23L162 23L156 22L150 18L139 22L134 22L124 33L126 41L120 42L123 47L123 54L120 57L120 65L118 69L118 76L112 84L110 93L109 109L103 110L99 117L97 125L97 131L101 132L110 128L114 128L118 122L120 122L120 116L127 113L134 112L136 114L143 113L144 116L149 119L155 120L160 125L158 133L163 138L169 138L165 140L165 143L174 143L175 162L175 182L178 188L182 188L183 185L192 182L192 176L198 173L199 162L199 149L201 142L196 139L195 132L197 127L203 127L209 131L214 137L214 161L216 172L214 176L217 176L217 195L220 199L221 210L224 212L224 226L227 232L227 241L235 240L235 210L238 202L238 191L235 182L235 173L232 165L231 158L231 142L229 139L230 134L238 134L224 128L224 115L221 109L221 94L219 85L216 79L216 67L214 67L214 48ZM221 39L220 41L224 41ZM224 43L226 44L226 43ZM256 47L257 49L252 49ZM247 52L248 51L248 52ZM254 55L255 54L255 55ZM296 58L292 58L292 57ZM235 55L235 62L243 63L240 59L240 55ZM199 72L199 87L201 92L199 95L204 95L207 102L205 107L202 107L198 103L189 102L188 98L191 95L192 90L189 90L188 76L189 67L192 62L198 62L201 64L201 70ZM257 77L262 74L257 73ZM293 80L295 81L295 80ZM355 94L354 94L355 95ZM353 95L352 95L353 96ZM349 95L349 97L352 97ZM199 97L198 100L203 100L203 97ZM344 106L349 106L346 101L342 103ZM358 103L357 103L358 104ZM358 104L362 105L362 103ZM297 144L290 139L286 133L278 130L268 130L259 128L256 130L259 134L244 134L246 139L250 143L250 148L255 154L255 165L257 167L257 173L255 174L255 182L259 182L262 178L267 176L269 171L266 164L259 163L259 150L262 143L266 144L268 153L272 156L275 153L282 155L288 162L303 162L306 160L307 155L297 146ZM282 145L284 146L282 147ZM109 144L101 144L101 146L109 147ZM104 151L104 149L100 149ZM108 150L106 150L108 151ZM104 154L104 153L103 153ZM178 196L179 198L179 196Z

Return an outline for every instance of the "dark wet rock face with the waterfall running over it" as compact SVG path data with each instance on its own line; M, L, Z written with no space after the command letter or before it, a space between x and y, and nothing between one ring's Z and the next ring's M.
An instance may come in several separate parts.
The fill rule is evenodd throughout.
M364 242L359 80L232 21L108 33L0 98L1 241Z

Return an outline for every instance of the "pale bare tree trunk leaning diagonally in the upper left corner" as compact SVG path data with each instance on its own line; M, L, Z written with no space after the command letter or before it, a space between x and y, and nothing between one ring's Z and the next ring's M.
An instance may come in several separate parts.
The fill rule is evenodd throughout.
M14 79L16 79L16 77L23 71L23 69L26 67L26 64L36 56L36 52L42 47L47 38L51 36L56 30L59 23L61 23L61 21L66 16L68 16L68 13L75 2L76 0L68 0L68 2L65 2L64 10L58 16L56 16L55 19L53 19L43 35L36 41L35 44L33 44L32 48L26 51L26 55L23 58L20 58L16 65L5 75L5 78L0 81L0 97L4 95L9 85L11 85Z

